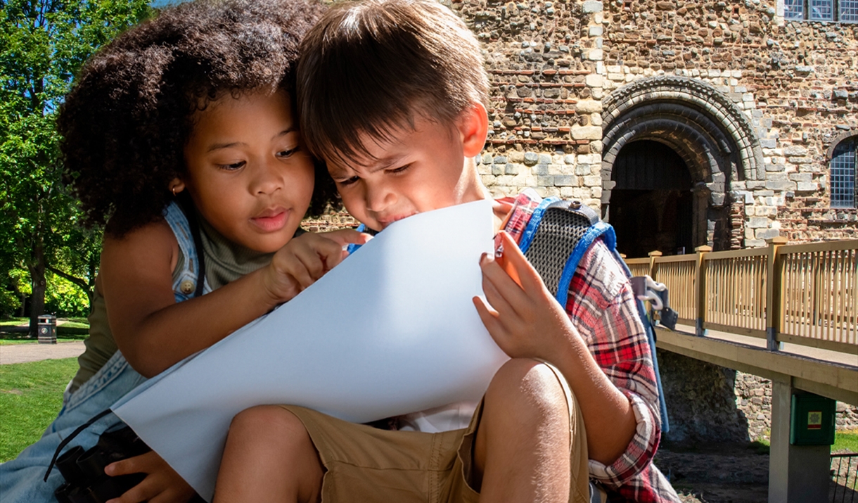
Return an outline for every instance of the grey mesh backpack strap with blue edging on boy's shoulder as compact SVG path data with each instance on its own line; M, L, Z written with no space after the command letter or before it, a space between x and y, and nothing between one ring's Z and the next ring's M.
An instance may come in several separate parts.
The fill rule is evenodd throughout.
M530 264L533 264L535 270L539 272L542 281L560 306L565 307L569 286L578 263L599 238L602 238L620 267L625 270L625 275L631 277L631 271L617 252L617 237L613 227L601 221L594 209L578 201L560 201L557 198L543 200L530 217L520 248ZM656 373L658 387L659 412L662 416L662 432L667 433L669 431L668 408L664 401L662 377L656 360L655 330L646 316L644 303L637 299L635 302L637 314L644 324L647 341L650 343L653 371Z

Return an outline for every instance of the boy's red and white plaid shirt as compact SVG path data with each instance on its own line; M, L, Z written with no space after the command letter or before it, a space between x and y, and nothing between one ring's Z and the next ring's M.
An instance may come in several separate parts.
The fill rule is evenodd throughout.
M515 198L505 230L516 242L541 200L532 190ZM662 425L650 344L625 270L601 239L578 264L565 308L602 372L629 398L637 420L634 438L613 464L589 460L590 477L607 488L612 502L679 502L652 464Z

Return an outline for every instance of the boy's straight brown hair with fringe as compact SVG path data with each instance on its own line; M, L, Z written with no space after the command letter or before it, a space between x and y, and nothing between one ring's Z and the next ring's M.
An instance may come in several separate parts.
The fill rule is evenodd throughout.
M301 45L301 134L323 159L370 157L360 136L390 139L414 114L453 124L487 106L480 44L434 0L363 0L332 7ZM365 136L365 137L366 137Z

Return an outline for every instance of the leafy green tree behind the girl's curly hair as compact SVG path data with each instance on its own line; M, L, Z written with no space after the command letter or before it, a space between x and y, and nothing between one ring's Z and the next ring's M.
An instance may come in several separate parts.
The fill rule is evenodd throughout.
M31 333L45 270L91 299L100 250L60 181L57 106L100 45L150 14L147 0L0 0L0 242L30 274Z

